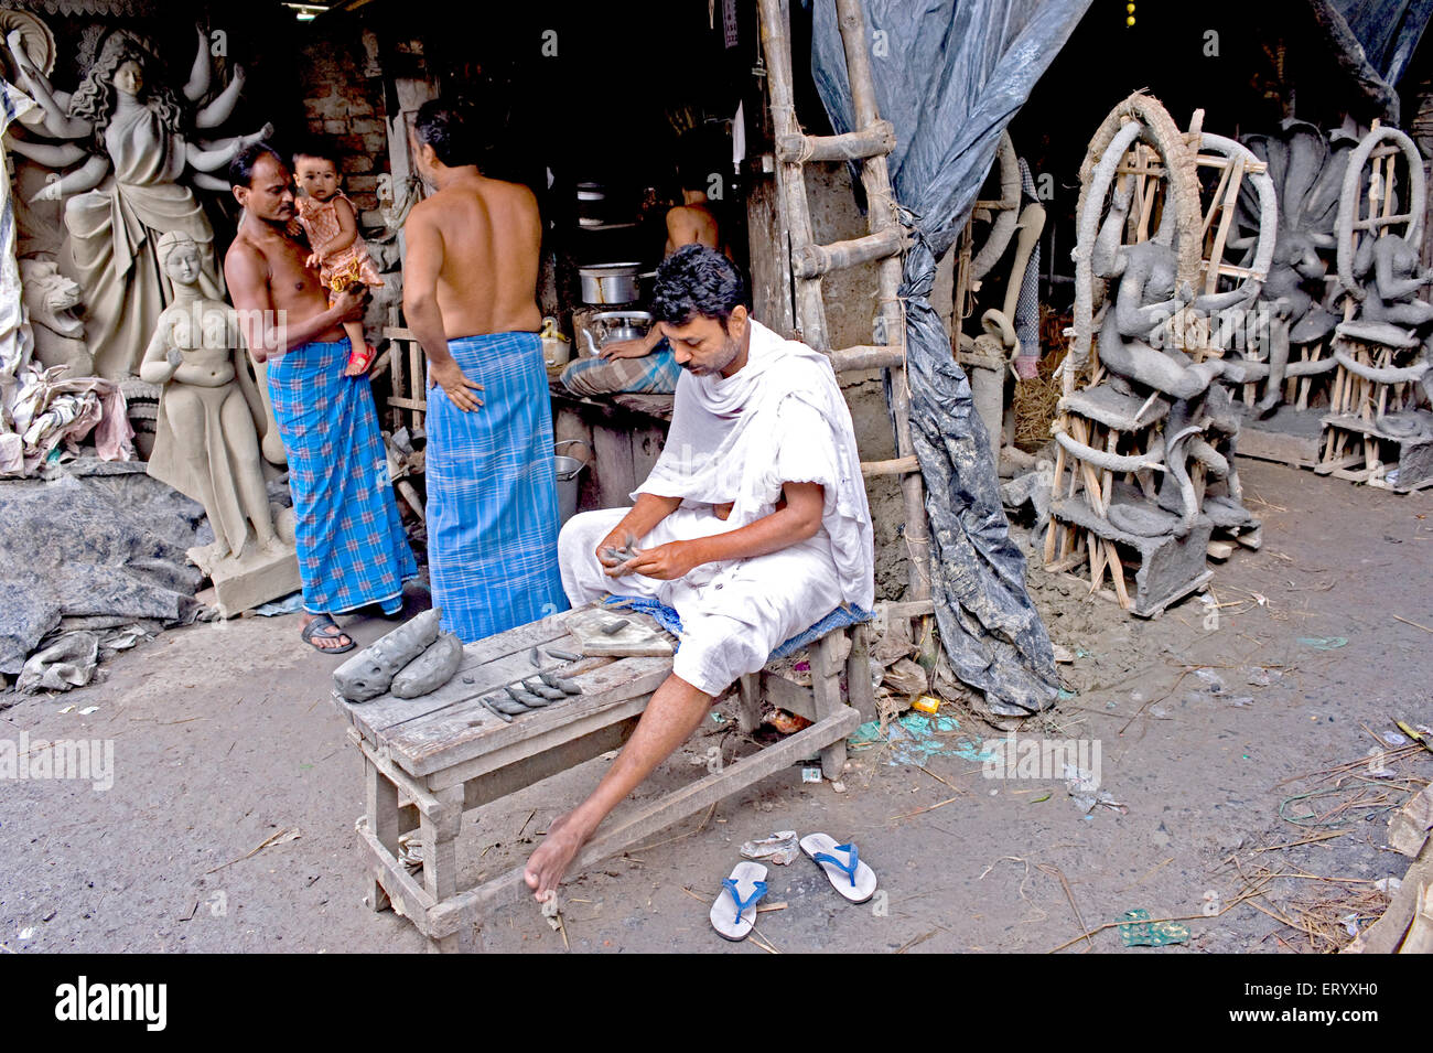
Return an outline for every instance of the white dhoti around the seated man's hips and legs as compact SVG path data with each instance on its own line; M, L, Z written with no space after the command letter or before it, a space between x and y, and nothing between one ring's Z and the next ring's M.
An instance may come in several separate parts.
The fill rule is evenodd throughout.
M615 593L646 596L675 609L682 619L682 646L672 672L706 695L719 695L737 678L761 669L772 650L843 602L824 530L781 552L708 563L672 582L643 574L608 577L598 562L598 544L628 511L602 509L567 520L557 537L562 587L573 606ZM709 537L734 526L709 509L681 507L639 539L638 547Z

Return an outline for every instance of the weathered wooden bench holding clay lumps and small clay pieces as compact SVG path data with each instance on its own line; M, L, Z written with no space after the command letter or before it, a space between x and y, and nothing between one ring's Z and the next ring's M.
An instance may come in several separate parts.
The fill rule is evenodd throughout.
M529 894L520 867L459 888L456 848L463 814L620 746L672 670L669 658L585 658L562 673L582 686L582 695L514 716L512 723L481 703L481 696L535 673L533 648L579 653L567 623L588 610L592 606L470 643L457 675L431 695L383 695L360 703L334 695L338 712L353 723L348 736L364 758L367 801L358 830L373 881L368 904L375 911L397 907L430 940L430 950L479 948L476 930L490 910ZM625 616L652 623L645 615ZM850 653L843 659L847 642ZM545 668L560 665L546 655L543 662ZM811 648L811 666L813 685L804 698L790 688L782 692L784 705L814 721L810 728L679 791L619 807L569 872L622 852L802 758L820 754L823 774L840 778L847 736L874 713L866 626L838 629L818 640ZM759 721L762 676L770 675L754 673L739 683L744 731L755 729ZM421 831L420 875L410 875L400 861L398 838L414 830Z

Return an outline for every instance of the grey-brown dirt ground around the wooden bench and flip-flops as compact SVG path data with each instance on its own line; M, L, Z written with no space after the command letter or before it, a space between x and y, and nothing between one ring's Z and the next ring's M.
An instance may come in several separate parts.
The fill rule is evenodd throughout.
M1366 924L1380 903L1373 883L1407 870L1383 847L1389 809L1433 776L1433 754L1367 756L1394 718L1433 723L1433 632L1394 617L1433 626L1433 496L1257 461L1242 474L1264 546L1218 564L1217 628L1198 599L1141 622L1032 572L1052 638L1076 653L1062 666L1075 693L1043 731L1022 734L1098 742L1101 788L1128 811L1085 815L1059 776L984 778L959 752L999 732L957 713L959 732L929 741L920 764L891 745L853 752L844 792L791 768L573 875L566 946L765 953L721 940L706 914L738 847L775 830L854 838L884 893L850 905L804 857L770 867L768 903L785 907L761 914L758 933L780 951L1046 951L1131 908L1194 915L1191 940L1164 953L1346 940L1323 934L1350 914ZM370 642L387 625L351 629ZM4 787L0 946L423 950L404 918L361 901L360 764L328 701L338 660L299 645L295 616L198 625L122 655L96 685L0 712L0 738L115 744L109 791ZM728 759L755 748L712 719L643 792L705 774L712 745ZM1390 774L1297 778L1344 762ZM467 814L469 874L519 864L603 764ZM1323 840L1278 847L1310 838ZM526 898L496 910L483 937L494 951L565 950ZM1086 947L1155 953L1122 951L1112 928L1070 950Z

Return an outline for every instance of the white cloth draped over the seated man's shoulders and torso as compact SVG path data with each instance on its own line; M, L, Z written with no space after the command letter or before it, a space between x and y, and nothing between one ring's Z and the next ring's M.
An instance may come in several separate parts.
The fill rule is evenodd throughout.
M871 511L835 372L805 344L754 318L749 325L747 364L731 377L682 372L666 446L633 497L732 503L725 529L735 530L770 516L782 483L820 483L841 600L868 610L876 600Z

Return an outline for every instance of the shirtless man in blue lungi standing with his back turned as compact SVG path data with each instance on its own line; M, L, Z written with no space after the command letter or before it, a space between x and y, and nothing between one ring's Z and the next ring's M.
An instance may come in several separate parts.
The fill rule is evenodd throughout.
M463 112L424 103L410 139L434 191L403 228L403 314L428 360L428 567L443 628L470 643L567 609L542 219L532 191L479 172Z

